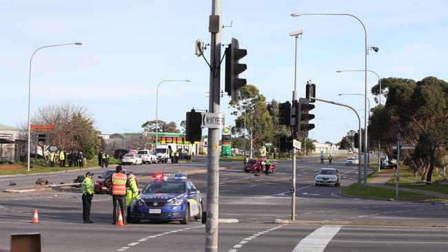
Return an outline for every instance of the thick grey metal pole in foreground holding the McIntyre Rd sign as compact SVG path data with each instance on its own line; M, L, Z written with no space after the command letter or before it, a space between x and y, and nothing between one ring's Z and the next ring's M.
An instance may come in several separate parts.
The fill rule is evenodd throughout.
M212 0L210 16L210 113L220 112L221 0ZM218 251L219 129L208 128L205 252Z

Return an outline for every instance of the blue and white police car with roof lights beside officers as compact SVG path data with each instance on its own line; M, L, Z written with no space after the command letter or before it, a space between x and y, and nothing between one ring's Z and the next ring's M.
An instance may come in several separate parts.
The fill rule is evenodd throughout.
M188 224L201 220L201 192L185 174L156 174L141 191L141 198L132 202L130 222L141 220L180 220Z

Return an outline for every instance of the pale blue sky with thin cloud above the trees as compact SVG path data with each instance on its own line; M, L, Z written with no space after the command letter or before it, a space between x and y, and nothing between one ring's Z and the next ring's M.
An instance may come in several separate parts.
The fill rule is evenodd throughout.
M316 84L316 97L364 109L365 32L349 16L291 17L292 13L352 14L365 25L370 51L367 69L381 78L420 81L436 76L448 81L448 0L222 0L221 43L238 39L247 50L240 75L256 85L267 101L291 101L294 90L295 38L297 90ZM210 72L194 54L194 41L210 43L208 19L212 0L0 1L0 124L17 127L28 118L28 80L32 53L45 45L81 42L39 50L31 65L31 113L46 105L70 101L88 108L103 134L142 132L158 118L180 125L190 109L208 109ZM228 27L232 24L232 27ZM224 53L224 48L221 52ZM210 61L210 48L205 50ZM224 65L224 61L223 61ZM223 67L224 69L224 67ZM367 76L370 88L378 78ZM221 90L224 90L221 71ZM230 97L221 98L229 125ZM382 98L384 103L385 98ZM316 128L309 137L338 142L358 128L345 107L315 103ZM358 111L364 121L364 111ZM179 126L180 128L180 126ZM207 130L203 130L207 134Z

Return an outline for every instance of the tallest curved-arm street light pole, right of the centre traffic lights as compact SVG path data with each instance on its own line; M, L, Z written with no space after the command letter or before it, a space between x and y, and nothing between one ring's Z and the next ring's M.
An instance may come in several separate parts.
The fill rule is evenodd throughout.
M365 25L363 21L358 19L358 17L352 15L352 14L345 14L345 13L307 13L307 14L298 14L298 13L292 13L291 17L301 17L301 16L349 16L353 17L354 19L358 20L361 25L363 25L364 28L364 93L365 93L365 99L364 99L364 125L367 125L367 54L369 54L369 48L367 48L367 30L365 28ZM364 134L364 149L367 149L367 127L365 128L365 134ZM367 174L367 155L364 155L364 173ZM367 180L364 181L364 188L367 188Z

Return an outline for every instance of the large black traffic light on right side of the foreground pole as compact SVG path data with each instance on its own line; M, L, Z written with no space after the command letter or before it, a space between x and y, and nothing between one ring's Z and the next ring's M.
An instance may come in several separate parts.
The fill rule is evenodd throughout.
M247 50L240 49L238 39L232 38L232 43L225 48L225 92L232 96L232 101L238 101L238 90L246 85L245 78L238 75L247 69L246 64L238 61L247 55Z

